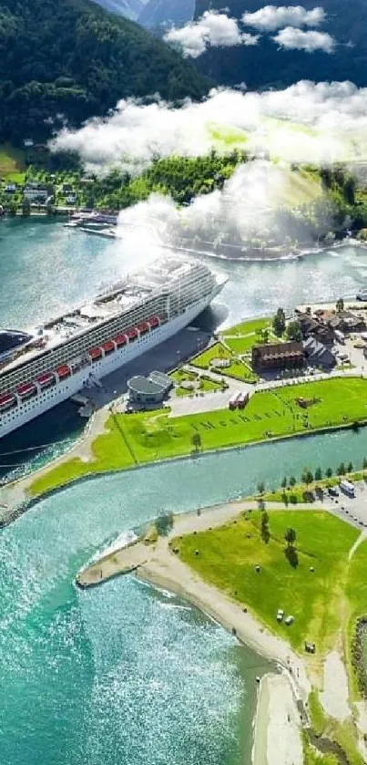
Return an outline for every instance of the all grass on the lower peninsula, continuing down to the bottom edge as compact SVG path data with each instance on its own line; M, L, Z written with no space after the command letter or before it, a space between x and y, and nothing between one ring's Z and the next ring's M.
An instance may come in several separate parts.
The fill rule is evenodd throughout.
M295 532L292 543L285 539L290 528ZM353 628L365 614L366 602L367 542L358 530L328 512L247 511L224 525L183 534L169 544L204 582L249 608L271 634L304 656L313 686L309 708L317 735L336 741L346 761L362 765L352 713L343 721L331 718L319 697L321 691L332 690L325 687L323 662L342 639L349 703L360 698L350 658ZM281 622L279 608L284 611ZM286 615L294 617L291 625L285 624ZM306 641L315 643L314 655L305 653ZM348 688L344 692L347 703ZM342 761L333 755L317 759L307 739L304 758L307 765Z

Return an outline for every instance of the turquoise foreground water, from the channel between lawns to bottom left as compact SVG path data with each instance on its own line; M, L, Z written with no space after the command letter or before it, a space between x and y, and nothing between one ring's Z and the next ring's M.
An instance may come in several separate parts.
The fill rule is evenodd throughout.
M79 483L5 528L2 765L250 765L262 660L177 598L130 577L87 592L74 577L118 534L158 513L366 453L361 430L162 463Z

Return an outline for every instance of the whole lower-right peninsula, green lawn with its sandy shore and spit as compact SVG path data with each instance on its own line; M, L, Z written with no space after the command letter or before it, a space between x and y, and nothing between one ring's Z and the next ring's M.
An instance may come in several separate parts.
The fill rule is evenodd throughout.
M88 587L134 572L274 662L260 681L254 765L362 765L367 756L366 672L355 659L367 538L331 501L322 505L238 501L161 517L77 577Z

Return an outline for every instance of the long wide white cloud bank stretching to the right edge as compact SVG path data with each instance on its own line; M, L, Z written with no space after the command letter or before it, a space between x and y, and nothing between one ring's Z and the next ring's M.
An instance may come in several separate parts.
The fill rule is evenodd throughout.
M54 149L76 150L87 169L119 166L137 173L155 156L199 156L240 146L273 159L367 160L367 88L350 82L299 82L263 93L213 90L175 109L158 101L122 100L105 119L62 130Z

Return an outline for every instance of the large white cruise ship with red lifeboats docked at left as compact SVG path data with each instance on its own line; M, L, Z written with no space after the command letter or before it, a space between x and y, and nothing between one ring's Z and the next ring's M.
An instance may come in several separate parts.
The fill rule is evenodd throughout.
M226 281L168 255L35 330L0 332L0 438L175 335Z

